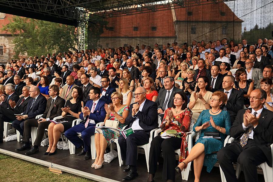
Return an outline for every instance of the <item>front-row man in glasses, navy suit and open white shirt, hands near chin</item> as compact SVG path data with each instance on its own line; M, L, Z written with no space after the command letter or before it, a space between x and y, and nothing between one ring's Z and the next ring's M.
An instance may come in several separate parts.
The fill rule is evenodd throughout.
M146 99L146 89L136 88L136 103L130 105L129 114L125 120L125 129L132 128L134 133L118 139L121 159L126 160L123 172L129 172L122 180L133 180L137 175L137 146L149 142L150 131L158 127L157 104Z

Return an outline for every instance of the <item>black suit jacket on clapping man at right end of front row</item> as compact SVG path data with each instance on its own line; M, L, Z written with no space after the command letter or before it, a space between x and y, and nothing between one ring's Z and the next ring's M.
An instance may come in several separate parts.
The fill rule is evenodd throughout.
M239 110L235 122L230 128L230 136L235 138L234 142L240 142L240 137L244 134L243 115L247 109ZM260 115L259 124L253 129L253 139L257 147L265 154L266 163L272 167L272 153L270 144L273 143L273 112L263 109Z

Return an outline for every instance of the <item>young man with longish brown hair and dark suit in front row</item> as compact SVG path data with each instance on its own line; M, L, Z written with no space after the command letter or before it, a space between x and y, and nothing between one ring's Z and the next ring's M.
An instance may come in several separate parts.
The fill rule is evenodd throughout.
M49 86L49 98L46 103L46 109L43 115L39 119L28 119L24 123L24 135L22 142L24 143L22 147L16 149L17 151L22 151L30 148L29 139L31 137L31 127L38 127L36 138L34 141L34 146L31 150L25 153L25 155L31 155L39 152L39 146L42 142L42 138L45 133L45 129L48 128L51 123L50 120L62 115L61 108L65 105L65 100L59 96L59 87L57 85ZM34 140L34 138L32 138ZM55 150L56 151L56 150Z

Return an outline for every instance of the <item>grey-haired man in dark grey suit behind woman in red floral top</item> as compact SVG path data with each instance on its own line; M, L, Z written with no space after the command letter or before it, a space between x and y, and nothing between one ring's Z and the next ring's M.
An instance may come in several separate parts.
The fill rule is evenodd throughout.
M156 100L158 114L164 114L167 108L172 107L174 94L182 91L174 86L174 78L170 76L164 79L164 87L164 89L160 89Z

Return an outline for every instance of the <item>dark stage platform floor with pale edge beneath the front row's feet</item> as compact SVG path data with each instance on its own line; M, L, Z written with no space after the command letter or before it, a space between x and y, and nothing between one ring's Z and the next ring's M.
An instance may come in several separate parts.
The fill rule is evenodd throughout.
M43 153L46 151L47 147L39 147L39 153L33 154L31 156L25 156L25 151L15 151L15 149L21 147L21 145L22 144L18 143L17 141L0 143L0 153L28 160L44 166L53 167L68 173L76 174L97 181L121 181L121 179L126 175L126 173L122 171L124 165L122 167L119 167L119 162L117 158L114 159L111 163L104 163L104 166L101 169L95 170L94 168L91 168L91 164L94 162L94 160L84 161L83 156L70 155L69 150L58 149L55 155L45 156L43 155ZM76 153L79 151L80 149L76 150ZM159 161L158 170L154 179L156 182L165 182L165 180L161 179L163 167L162 160L163 159L161 158ZM147 172L145 156L143 154L139 154L138 157L138 173L139 176L136 179L132 180L132 182L146 182L149 174ZM264 177L262 174L259 174L258 177L259 181L264 181ZM185 180L182 180L181 175L177 174L175 181L182 182ZM211 173L207 173L206 167L203 167L201 173L201 181L221 182L219 167L214 167ZM240 181L245 181L243 172L241 172ZM190 171L188 182L194 182L193 171Z

